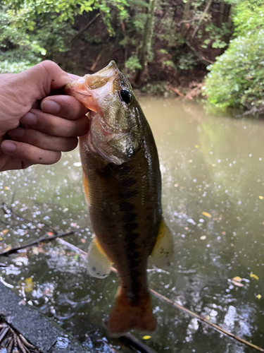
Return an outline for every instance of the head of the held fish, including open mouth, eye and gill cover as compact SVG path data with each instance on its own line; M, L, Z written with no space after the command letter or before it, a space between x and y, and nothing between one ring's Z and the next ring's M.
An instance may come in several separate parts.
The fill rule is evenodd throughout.
M143 113L130 82L115 61L97 73L68 83L65 92L89 109L89 149L115 164L130 160L139 149Z

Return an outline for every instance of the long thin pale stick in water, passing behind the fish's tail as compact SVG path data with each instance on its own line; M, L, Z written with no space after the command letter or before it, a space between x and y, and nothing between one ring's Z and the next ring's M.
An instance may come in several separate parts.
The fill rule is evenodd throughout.
M77 253L80 253L81 256L87 258L87 253L79 248L77 248L77 246L74 246L73 244L68 243L68 241L62 240L62 239L58 239L60 242L63 241L63 244L65 244L66 246L70 247L70 249L75 249L77 251ZM111 267L111 271L115 274L118 274L118 271ZM264 349L260 348L256 345L253 345L253 343L248 342L246 340L243 340L243 338L237 337L236 335L234 335L233 333L230 333L229 331L225 330L225 328L221 328L218 325L215 325L215 323L211 323L210 321L208 321L206 318L204 318L201 315L198 315L197 313L193 313L192 311L190 311L189 309L184 308L184 306L181 306L180 304L175 303L174 301L164 297L162 294L159 294L158 292L156 292L154 289L149 289L149 291L151 292L151 294L153 294L156 298L165 301L165 303L170 304L171 306L173 306L176 309L179 309L180 311L182 311L183 313L187 313L189 316L193 317L193 318L197 318L200 321L203 321L203 323L206 323L207 325L209 325L210 327L212 327L214 330L217 330L218 332L227 335L229 337L232 337L234 340L237 340L240 343L243 343L244 345L251 347L253 349L256 349L258 352L263 352L264 353ZM125 335L126 336L126 335Z

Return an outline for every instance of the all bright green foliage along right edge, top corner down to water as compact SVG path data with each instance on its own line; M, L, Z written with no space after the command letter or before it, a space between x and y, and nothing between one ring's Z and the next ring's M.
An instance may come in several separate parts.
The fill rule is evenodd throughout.
M237 1L233 20L237 38L210 66L205 92L217 107L260 112L264 109L263 1Z

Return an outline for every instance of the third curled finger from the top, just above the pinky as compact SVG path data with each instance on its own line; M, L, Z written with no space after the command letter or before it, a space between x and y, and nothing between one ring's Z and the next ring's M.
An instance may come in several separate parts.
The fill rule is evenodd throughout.
M32 128L14 128L8 131L8 135L13 140L34 145L42 150L68 152L74 150L78 144L77 137L50 136Z

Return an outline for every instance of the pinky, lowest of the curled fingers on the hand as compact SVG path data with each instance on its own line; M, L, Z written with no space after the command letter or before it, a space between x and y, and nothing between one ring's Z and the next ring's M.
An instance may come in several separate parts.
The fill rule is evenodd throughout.
M42 150L27 143L4 140L1 150L15 159L27 164L54 164L61 158L61 152Z

